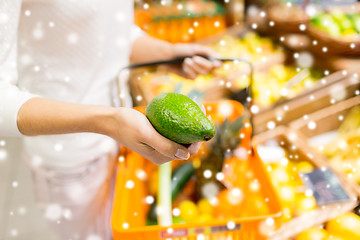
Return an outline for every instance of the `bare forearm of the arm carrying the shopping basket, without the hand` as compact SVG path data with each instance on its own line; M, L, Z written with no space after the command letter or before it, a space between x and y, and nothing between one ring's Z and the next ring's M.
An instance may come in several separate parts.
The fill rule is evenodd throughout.
M130 60L136 63L167 60L174 57L173 44L148 35L139 37L131 47Z

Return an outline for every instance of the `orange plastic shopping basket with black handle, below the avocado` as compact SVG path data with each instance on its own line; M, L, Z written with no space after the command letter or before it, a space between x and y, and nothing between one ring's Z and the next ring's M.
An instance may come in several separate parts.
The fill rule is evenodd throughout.
M233 119L241 116L244 112L239 102L229 100L205 104L205 107L207 114L211 115L213 121L222 121L225 117ZM138 108L141 112L144 112L144 109L144 107ZM254 216L246 218L216 219L206 223L173 224L170 228L158 225L146 226L146 215L150 206L145 202L148 195L146 176L156 168L156 165L129 149L123 148L122 150L118 161L111 219L114 240L260 240L267 239L267 236L261 233L263 232L261 228L266 222L274 222L275 226L280 224L282 212L280 200L262 161L255 154L253 159L249 161L249 168L254 172L262 186L262 196L268 200L266 203L268 214L260 216L254 213ZM126 185L129 186L128 181L132 181L133 184L130 185L134 187L126 187Z

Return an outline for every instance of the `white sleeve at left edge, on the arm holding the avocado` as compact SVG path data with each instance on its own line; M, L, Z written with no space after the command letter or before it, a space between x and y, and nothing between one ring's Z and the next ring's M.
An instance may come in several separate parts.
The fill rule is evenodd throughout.
M22 136L17 127L20 107L34 97L17 87L17 31L21 0L0 1L0 136Z

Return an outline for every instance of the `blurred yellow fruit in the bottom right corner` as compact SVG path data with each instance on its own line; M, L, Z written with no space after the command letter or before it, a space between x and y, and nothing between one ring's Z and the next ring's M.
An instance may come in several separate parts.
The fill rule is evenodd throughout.
M360 239L360 217L355 213L345 213L330 220L326 230L331 235L344 239Z

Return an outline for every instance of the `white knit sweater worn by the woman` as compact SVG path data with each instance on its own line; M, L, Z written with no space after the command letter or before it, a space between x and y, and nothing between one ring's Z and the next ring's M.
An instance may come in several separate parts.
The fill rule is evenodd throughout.
M128 0L0 1L0 136L21 136L17 113L29 98L111 105L134 30ZM42 163L71 166L114 149L97 134L24 137Z

